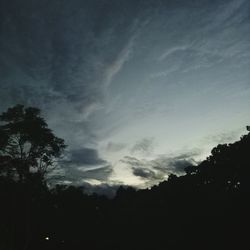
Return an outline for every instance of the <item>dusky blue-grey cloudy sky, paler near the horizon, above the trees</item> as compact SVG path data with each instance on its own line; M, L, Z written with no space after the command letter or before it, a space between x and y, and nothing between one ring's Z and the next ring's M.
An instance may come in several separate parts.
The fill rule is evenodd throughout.
M183 174L250 123L250 1L0 0L0 100L65 139L54 182Z

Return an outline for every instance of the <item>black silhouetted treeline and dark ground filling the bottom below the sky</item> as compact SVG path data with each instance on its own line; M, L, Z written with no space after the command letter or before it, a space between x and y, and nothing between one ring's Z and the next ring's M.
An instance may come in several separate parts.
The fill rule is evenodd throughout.
M248 243L250 134L218 145L184 176L170 175L150 190L120 187L113 199L74 186L48 189L39 169L19 176L11 165L15 155L1 156L1 250L241 249Z

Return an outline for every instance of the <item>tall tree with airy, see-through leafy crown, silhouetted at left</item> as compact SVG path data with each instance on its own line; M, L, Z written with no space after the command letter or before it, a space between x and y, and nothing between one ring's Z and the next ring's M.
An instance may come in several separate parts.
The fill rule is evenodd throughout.
M16 105L0 116L0 173L17 175L20 181L31 172L44 177L65 148L40 116L40 110Z

